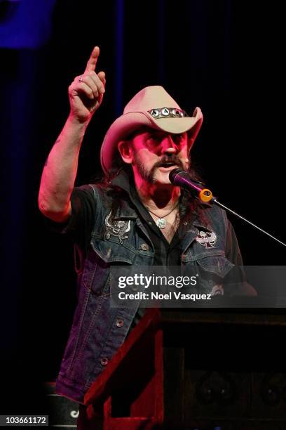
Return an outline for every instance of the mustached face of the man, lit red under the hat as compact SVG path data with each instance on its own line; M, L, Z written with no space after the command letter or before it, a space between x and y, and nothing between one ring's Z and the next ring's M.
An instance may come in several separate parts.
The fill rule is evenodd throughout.
M135 183L170 184L172 169L186 170L188 164L187 134L170 134L142 127L130 143L133 152Z

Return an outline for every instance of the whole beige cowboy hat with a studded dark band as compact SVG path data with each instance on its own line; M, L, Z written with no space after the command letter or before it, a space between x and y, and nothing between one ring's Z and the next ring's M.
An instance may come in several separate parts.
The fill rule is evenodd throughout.
M123 115L107 130L100 150L102 169L107 173L113 167L118 143L141 126L149 126L168 133L188 131L191 149L202 122L203 114L199 107L196 107L193 116L189 117L163 86L147 86L135 94L125 106Z

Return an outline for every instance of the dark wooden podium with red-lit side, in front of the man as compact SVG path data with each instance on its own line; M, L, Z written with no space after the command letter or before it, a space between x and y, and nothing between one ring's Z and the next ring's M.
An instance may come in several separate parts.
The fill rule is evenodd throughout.
M148 309L90 386L88 429L286 429L284 309Z

